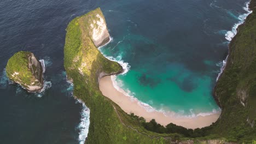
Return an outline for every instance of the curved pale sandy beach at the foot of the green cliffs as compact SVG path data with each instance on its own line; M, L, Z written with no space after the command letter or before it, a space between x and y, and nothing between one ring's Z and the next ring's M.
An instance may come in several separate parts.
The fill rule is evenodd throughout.
M194 118L176 118L167 117L164 115L164 113L158 111L148 112L138 104L137 100L132 100L130 97L127 97L115 89L111 80L111 76L105 76L101 78L100 90L103 95L117 103L125 112L133 112L137 116L142 116L146 119L147 122L154 118L156 122L160 123L161 125L174 123L185 128L195 129L211 125L213 122L216 122L220 116L220 113L215 113L209 116L197 116Z

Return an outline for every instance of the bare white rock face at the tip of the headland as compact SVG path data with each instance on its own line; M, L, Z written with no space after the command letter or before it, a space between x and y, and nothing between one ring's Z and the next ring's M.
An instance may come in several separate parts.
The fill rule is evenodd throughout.
M91 38L94 41L96 47L102 46L109 41L109 33L107 29L106 22L104 21L103 17L99 14L96 15L98 18L97 21L93 21L91 26Z

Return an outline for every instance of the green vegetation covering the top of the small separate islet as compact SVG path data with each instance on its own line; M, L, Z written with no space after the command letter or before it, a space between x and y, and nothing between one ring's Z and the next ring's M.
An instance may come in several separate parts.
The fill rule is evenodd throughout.
M28 57L30 55L31 52L20 51L15 53L9 59L5 70L10 80L22 81L22 83L27 84L30 84L32 82L34 76L31 73L31 70L28 68ZM15 73L17 75L15 75Z

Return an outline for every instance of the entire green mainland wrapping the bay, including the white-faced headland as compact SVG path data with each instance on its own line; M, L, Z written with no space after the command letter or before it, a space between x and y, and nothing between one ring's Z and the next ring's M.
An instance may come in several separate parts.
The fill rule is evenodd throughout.
M160 125L154 119L127 114L104 97L101 77L119 74L122 67L105 58L97 47L109 40L100 8L76 17L67 27L64 66L74 83L74 96L90 109L86 143L252 143L255 123L255 0L253 13L238 27L229 47L229 58L214 95L222 108L217 122L205 128L187 129L173 123Z

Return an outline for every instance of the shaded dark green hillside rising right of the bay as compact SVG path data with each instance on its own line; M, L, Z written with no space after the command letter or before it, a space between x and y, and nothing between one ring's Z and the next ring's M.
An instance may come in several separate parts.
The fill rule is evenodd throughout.
M230 140L246 143L256 140L256 127L248 124L256 121L256 1L250 8L253 13L238 27L238 33L229 46L225 70L214 89L222 115L212 133ZM246 96L245 100L241 97ZM245 103L245 106L241 104ZM248 141L247 141L248 140Z

